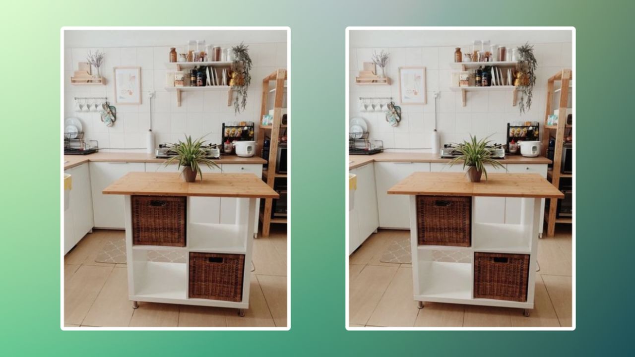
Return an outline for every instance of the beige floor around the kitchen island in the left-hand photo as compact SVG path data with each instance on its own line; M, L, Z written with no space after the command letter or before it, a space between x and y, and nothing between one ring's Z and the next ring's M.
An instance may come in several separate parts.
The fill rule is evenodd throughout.
M279 227L276 227L279 226ZM126 264L95 262L107 239L123 231L95 230L64 257L64 323L70 327L286 327L286 226L255 239L250 308L154 304L128 300Z

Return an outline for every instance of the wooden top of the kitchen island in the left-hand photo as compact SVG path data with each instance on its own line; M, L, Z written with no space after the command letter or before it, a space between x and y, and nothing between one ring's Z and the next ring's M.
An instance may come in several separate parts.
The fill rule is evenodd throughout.
M104 194L279 198L251 173L204 173L203 180L185 182L178 172L129 172L102 191Z

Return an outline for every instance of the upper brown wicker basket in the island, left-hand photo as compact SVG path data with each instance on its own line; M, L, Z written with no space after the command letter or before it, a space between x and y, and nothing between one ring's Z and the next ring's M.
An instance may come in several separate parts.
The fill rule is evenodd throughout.
M185 197L132 196L132 243L185 246Z

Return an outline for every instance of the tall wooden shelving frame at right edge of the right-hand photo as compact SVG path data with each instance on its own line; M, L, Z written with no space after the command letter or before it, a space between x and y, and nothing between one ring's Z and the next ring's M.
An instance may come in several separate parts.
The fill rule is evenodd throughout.
M559 115L557 125L547 125L547 118L553 112L553 98L555 93L559 93L558 109L559 113L566 113L569 105L569 91L572 89L570 83L573 74L570 69L563 69L547 79L547 105L545 107L545 132L542 134L542 155L547 156L549 149L549 137L556 138L554 147L553 168L547 172L547 179L551 179L551 184L560 187L560 179L571 178L571 173L561 173L563 146L565 144L565 131L573 128L573 125L566 123L566 114ZM560 88L555 89L555 83L560 82ZM558 218L558 198L552 198L549 201L549 211L545 212L545 221L547 222L547 237L554 236L556 231L556 223L572 224L572 218Z

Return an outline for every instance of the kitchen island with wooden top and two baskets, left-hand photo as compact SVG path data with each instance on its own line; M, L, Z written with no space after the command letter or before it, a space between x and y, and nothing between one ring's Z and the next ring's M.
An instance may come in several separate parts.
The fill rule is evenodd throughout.
M138 301L249 307L251 247L258 198L278 198L250 173L130 172L103 191L124 195L128 297ZM190 199L236 198L234 224L193 222ZM201 213L201 212L199 212ZM204 214L204 212L203 212ZM157 261L156 255L177 257ZM182 259L178 259L182 257Z

